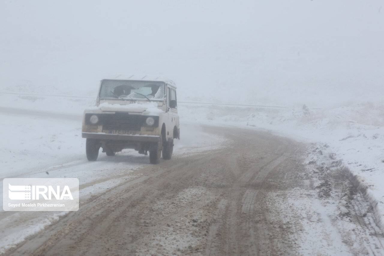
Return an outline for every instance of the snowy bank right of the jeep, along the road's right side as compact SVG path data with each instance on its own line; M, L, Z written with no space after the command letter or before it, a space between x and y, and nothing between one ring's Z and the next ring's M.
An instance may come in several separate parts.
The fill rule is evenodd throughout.
M340 161L338 167L348 167L354 181L367 188L367 199L384 230L384 104L326 109L183 104L179 111L189 122L263 129L314 144L317 150L308 162L321 164L330 157Z

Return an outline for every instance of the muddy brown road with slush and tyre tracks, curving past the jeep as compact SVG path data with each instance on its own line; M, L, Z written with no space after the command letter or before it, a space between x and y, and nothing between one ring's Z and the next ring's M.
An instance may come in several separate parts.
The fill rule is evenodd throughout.
M80 176L79 211L51 216L4 255L384 255L370 206L343 170L313 171L306 146L283 137L201 129L226 140L159 165L119 154L52 167L50 176ZM44 214L2 213L5 233Z

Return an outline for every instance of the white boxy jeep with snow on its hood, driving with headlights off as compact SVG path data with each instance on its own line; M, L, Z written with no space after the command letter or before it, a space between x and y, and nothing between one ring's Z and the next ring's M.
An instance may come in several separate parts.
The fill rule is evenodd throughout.
M180 139L176 86L150 76L115 76L100 81L96 107L86 109L82 137L86 155L95 161L100 147L108 156L122 149L147 155L151 164L171 159L174 139Z

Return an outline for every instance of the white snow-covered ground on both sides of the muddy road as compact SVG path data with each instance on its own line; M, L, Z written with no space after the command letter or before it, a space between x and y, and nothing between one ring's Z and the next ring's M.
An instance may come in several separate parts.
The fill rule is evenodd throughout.
M94 99L88 96L52 96L55 94L38 95L33 91L28 95L0 93L0 127L3 131L0 134L3 142L0 147L1 178L75 175L80 185L92 184L80 191L80 196L86 198L99 188L118 183L118 178L108 177L118 177L149 164L146 156L138 155L134 150L118 153L113 160L101 155L101 161L88 162L85 140L81 138L81 117L85 108L94 105ZM308 155L308 163L321 164L326 156L348 167L356 180L367 188L367 196L371 204L376 204L374 210L383 229L383 104L367 102L311 109L303 105L247 107L180 103L179 115L181 140L176 142L174 154L211 149L222 142L220 137L204 134L193 126L194 123L262 129L312 143L316 150ZM82 172L84 166L87 172ZM2 200L2 195L0 198ZM24 214L8 216L2 210L1 213L2 220L20 218ZM46 218L36 215L32 222L20 223L12 234L0 236L0 252L49 225L59 215L52 213ZM8 221L2 221L2 228Z

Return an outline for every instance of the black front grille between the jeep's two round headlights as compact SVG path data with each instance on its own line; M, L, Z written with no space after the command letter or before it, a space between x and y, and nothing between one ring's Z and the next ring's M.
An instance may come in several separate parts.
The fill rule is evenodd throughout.
M140 130L141 115L115 113L103 115L103 130Z

